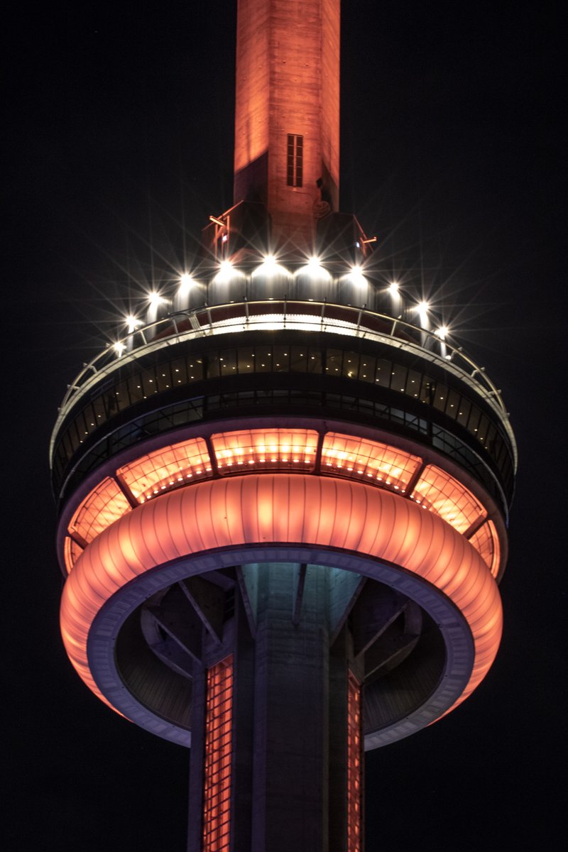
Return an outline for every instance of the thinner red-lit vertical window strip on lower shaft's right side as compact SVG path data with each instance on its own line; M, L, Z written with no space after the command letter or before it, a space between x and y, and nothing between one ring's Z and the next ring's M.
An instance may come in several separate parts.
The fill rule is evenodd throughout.
M361 852L362 803L361 687L352 674L347 683L347 852Z

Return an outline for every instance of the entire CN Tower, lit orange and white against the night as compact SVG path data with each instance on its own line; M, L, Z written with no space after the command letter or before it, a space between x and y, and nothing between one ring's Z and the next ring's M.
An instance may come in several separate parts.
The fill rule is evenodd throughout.
M363 752L502 633L501 395L339 195L340 0L238 0L234 198L51 439L72 665L190 747L188 852L362 852Z

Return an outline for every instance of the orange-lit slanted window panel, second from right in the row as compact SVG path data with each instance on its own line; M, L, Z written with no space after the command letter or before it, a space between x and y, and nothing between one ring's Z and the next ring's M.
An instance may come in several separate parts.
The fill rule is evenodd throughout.
M472 492L433 464L424 469L410 496L423 509L444 518L459 533L467 533L473 523L487 515Z

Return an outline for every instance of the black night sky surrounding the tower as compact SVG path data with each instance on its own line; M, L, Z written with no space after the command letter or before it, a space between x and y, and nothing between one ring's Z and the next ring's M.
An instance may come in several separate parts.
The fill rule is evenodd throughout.
M235 7L67 4L21 9L9 27L6 849L184 849L186 752L107 710L60 644L47 448L66 383L129 299L152 274L173 279L192 234L232 202ZM559 20L552 4L344 0L342 26L341 206L486 366L520 456L501 651L450 717L367 758L367 850L553 849L565 758Z

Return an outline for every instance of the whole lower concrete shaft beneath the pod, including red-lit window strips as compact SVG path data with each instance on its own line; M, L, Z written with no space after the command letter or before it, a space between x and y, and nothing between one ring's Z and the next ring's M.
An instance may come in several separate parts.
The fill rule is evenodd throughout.
M361 720L349 697L364 666L349 630L330 629L337 573L240 572L234 624L221 647L204 639L193 669L188 852L359 852Z

